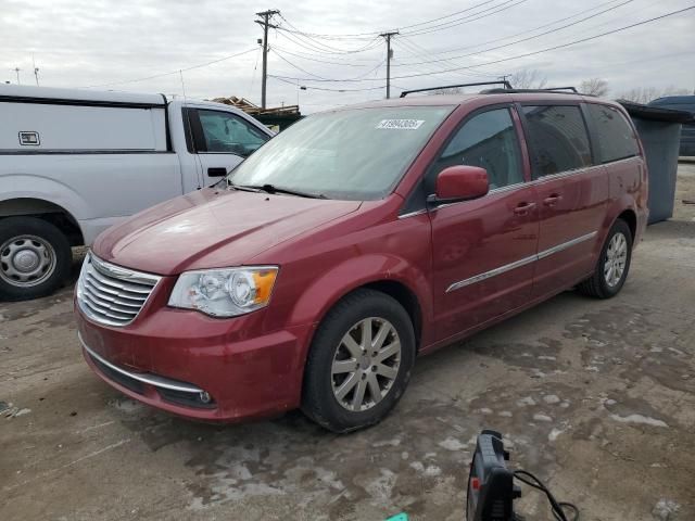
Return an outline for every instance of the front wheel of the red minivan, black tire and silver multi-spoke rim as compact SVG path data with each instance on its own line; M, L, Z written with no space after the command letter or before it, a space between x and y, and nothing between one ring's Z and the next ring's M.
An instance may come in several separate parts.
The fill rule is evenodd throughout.
M369 345L375 351L365 356L359 344L367 344L366 330L371 331ZM391 354L396 341L400 352ZM415 333L403 306L384 293L357 290L328 313L314 336L304 372L302 410L338 433L377 423L403 395L414 363ZM333 367L339 372L333 373Z

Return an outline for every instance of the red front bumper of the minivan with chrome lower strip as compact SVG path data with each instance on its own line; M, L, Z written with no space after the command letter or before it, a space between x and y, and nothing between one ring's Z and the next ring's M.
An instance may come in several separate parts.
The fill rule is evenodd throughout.
M90 368L122 393L205 421L296 408L311 326L252 336L257 317L211 319L163 308L125 328L91 322L76 306Z

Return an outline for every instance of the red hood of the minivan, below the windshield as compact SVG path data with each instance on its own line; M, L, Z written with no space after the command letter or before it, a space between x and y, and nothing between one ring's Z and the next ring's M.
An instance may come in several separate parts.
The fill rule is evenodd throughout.
M359 201L204 189L110 228L92 250L110 263L159 275L240 266L359 205Z

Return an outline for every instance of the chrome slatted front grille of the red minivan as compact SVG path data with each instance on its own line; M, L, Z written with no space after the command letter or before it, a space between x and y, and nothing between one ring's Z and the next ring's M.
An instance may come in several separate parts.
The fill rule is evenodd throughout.
M77 281L77 302L94 322L127 326L138 316L160 279L88 254Z

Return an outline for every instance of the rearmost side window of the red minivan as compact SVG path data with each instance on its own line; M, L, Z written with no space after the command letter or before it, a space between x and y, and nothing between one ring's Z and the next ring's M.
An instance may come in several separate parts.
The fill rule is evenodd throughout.
M601 163L633 157L640 153L634 131L624 116L606 105L589 103L589 115L594 122L596 149Z

